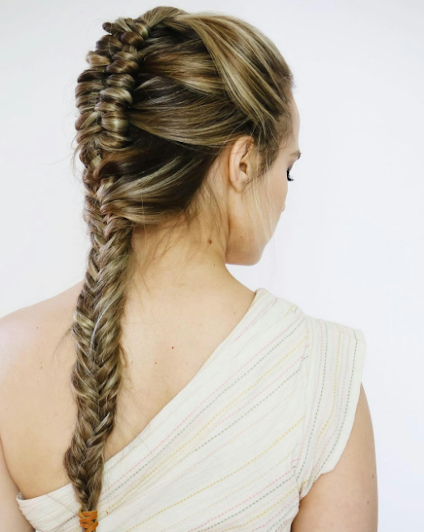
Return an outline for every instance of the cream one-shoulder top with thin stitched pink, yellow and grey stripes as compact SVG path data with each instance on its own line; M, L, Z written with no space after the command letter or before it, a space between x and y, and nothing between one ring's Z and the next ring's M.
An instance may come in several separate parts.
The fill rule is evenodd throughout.
M104 467L96 532L290 531L352 429L363 332L258 288L199 372ZM17 503L39 532L80 532L71 484Z

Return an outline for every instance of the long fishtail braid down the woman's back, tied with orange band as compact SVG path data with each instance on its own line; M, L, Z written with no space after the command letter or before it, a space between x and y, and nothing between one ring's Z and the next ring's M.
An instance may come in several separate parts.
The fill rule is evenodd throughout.
M152 15L152 25L173 11L166 8L147 14ZM77 351L71 389L78 413L63 463L81 504L78 515L86 531L94 530L98 523L104 445L114 426L121 381L124 353L119 343L119 317L124 309L132 254L132 222L123 217L119 201L113 199L119 179L102 177L101 169L107 164L108 152L131 145L126 136L126 108L131 106L134 76L140 70L137 52L149 35L146 21L118 18L114 23L105 22L102 27L109 35L97 41L96 51L88 52L86 60L91 68L80 74L76 88L80 110L77 142L85 167L83 216L91 250L71 329Z

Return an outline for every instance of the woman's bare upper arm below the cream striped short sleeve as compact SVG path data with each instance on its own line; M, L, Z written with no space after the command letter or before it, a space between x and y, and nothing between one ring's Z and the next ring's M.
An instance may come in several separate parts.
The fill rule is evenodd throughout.
M300 500L291 532L377 532L378 495L374 434L365 390L347 445L336 467Z

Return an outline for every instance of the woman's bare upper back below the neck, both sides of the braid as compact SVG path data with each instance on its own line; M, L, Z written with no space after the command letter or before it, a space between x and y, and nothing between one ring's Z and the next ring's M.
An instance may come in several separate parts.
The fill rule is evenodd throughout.
M0 438L7 467L25 498L70 482L62 461L77 416L70 387L76 349L70 334L62 337L82 287L81 281L0 320ZM143 430L237 325L254 292L241 284L232 292L226 301L203 305L204 319L197 306L185 304L177 312L156 310L154 322L150 315L131 315L123 323L128 370L105 460Z

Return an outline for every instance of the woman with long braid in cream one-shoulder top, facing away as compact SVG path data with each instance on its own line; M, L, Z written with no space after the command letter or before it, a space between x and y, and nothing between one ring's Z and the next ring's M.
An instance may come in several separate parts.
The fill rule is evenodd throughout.
M103 29L76 88L85 278L2 319L5 529L376 530L363 332L226 268L284 210L289 66L227 15Z

